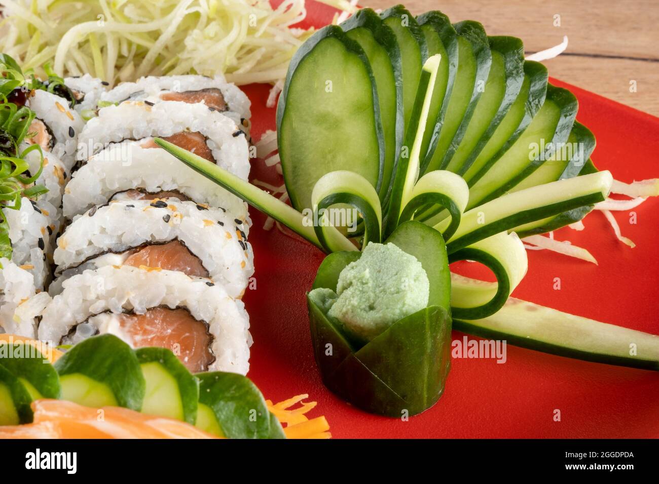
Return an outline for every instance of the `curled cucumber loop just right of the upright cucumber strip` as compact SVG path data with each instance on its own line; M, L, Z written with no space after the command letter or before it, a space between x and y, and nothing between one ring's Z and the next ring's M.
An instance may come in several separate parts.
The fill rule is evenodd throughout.
M449 240L460 225L467 202L469 186L461 176L445 170L431 171L416 182L411 200L403 208L399 223L413 219L422 207L440 205L451 215L451 223L441 231L444 240Z

